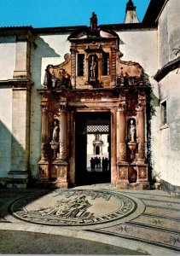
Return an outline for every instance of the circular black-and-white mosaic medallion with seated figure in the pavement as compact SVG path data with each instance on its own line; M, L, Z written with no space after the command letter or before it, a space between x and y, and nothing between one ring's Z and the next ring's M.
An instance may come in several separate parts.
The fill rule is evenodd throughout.
M10 213L34 224L90 225L125 218L136 211L136 201L102 190L57 189L26 195L14 201Z

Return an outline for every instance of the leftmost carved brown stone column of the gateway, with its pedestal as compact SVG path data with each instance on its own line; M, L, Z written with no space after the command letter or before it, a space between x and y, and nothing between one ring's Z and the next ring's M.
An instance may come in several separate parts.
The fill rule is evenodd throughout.
M46 95L42 96L41 108L41 160L38 162L38 183L47 183L49 181L49 161L47 145L47 138L49 137L49 101L48 96Z

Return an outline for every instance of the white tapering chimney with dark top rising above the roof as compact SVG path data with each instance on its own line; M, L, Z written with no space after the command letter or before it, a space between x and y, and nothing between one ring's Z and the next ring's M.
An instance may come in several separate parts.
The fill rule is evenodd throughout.
M126 4L124 23L139 23L139 20L136 15L136 6L134 6L132 0L129 0Z

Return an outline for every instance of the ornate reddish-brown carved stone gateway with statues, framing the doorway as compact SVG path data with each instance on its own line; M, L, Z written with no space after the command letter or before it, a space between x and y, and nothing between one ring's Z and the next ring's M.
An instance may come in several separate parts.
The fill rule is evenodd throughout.
M42 96L42 145L38 183L67 188L75 180L75 126L78 112L111 113L111 183L148 189L145 163L147 86L142 67L122 61L119 36L97 26L73 32L70 53L49 65ZM83 179L84 177L82 177Z

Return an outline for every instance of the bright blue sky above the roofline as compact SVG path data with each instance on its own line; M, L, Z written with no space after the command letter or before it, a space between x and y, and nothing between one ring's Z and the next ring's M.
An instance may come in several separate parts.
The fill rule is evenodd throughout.
M0 0L0 26L90 25L96 12L98 25L123 23L128 0ZM150 0L133 0L140 21Z

